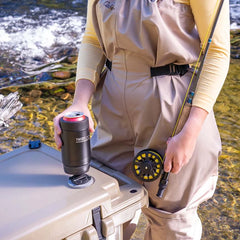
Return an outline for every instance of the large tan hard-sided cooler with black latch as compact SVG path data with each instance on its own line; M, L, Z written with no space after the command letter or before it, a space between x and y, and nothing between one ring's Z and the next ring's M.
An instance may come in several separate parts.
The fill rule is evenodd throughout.
M122 225L148 204L146 190L93 161L94 184L71 189L60 159L45 144L0 156L0 239L97 240L100 228L102 239L122 239Z

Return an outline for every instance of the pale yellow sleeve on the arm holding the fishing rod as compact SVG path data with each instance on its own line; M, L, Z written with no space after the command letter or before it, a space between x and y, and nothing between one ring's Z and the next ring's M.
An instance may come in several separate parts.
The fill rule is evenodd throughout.
M216 12L218 0L190 0L190 6L199 32L201 43L208 35L209 26L213 22L212 16ZM212 26L211 26L212 27ZM211 29L210 27L210 29ZM221 91L228 73L230 61L230 18L229 1L223 7L212 37L208 54L197 83L193 106L211 111Z

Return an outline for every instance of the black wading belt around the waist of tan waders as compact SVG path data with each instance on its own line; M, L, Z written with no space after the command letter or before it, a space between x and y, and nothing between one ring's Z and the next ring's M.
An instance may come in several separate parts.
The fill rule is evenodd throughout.
M107 59L107 68L112 70L112 62ZM162 76L162 75L180 75L183 76L188 71L189 65L175 65L173 63L161 66L161 67L151 67L151 77Z

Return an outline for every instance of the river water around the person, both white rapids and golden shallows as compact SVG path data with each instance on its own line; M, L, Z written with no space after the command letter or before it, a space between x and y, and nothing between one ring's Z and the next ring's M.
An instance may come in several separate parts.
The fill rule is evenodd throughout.
M0 93L1 87L22 84L31 69L57 61L63 47L75 54L86 23L86 0L0 0ZM230 0L231 27L240 28L240 1ZM200 206L203 240L240 239L240 60L231 60L230 71L215 105L223 151L219 159L219 181L214 197ZM25 85L24 85L25 86ZM40 139L55 147L52 119L72 101L68 84L40 83L18 90L24 106L1 130L0 154ZM33 90L40 94L33 97ZM71 95L66 99L58 93ZM36 92L35 92L36 93ZM28 99L28 101L26 100ZM141 217L133 240L142 240L146 220Z

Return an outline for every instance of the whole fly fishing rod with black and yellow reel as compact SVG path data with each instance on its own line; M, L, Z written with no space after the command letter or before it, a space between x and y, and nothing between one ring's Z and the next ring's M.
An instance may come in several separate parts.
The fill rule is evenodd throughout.
M173 137L174 135L178 134L181 131L181 129L183 128L183 126L189 116L196 84L198 82L198 79L200 78L202 68L204 65L204 61L207 56L209 46L212 42L212 36L213 36L214 30L217 25L217 21L218 21L218 18L219 18L219 15L220 15L220 12L221 12L221 9L223 6L223 2L224 2L224 0L220 0L218 9L216 11L215 19L213 21L210 21L210 22L213 22L212 29L210 31L211 25L209 25L208 31L206 33L206 38L204 40L204 44L201 48L197 63L194 68L194 72L192 74L192 77L191 77L188 89L186 91L186 94L185 94L185 97L183 100L183 104L182 104L180 112L178 114L178 118L177 118L176 124L174 126L171 137ZM217 4L216 4L216 7L217 7ZM209 33L209 31L210 31L210 33ZM208 33L209 33L209 35L208 35ZM207 39L207 36L209 36L208 39ZM206 44L206 42L207 42L207 44ZM206 45L206 47L205 47L205 45ZM200 66L198 68L199 62L200 62ZM197 68L198 68L198 70L197 70ZM167 187L168 178L169 178L169 173L165 172L163 170L164 160L165 160L165 155L162 158L161 155L153 149L145 149L145 150L140 151L133 160L133 172L136 175L136 177L139 178L140 180L146 181L146 182L151 182L151 181L156 180L159 176L161 176L160 181L159 181L158 192L156 194L158 197L163 196L163 193Z

